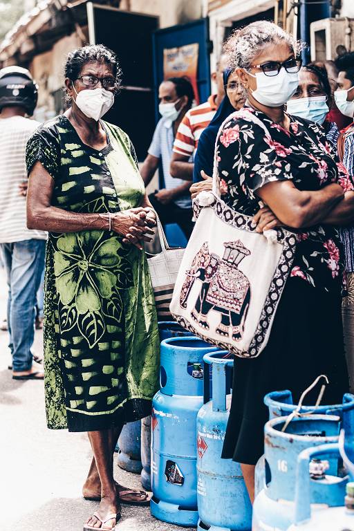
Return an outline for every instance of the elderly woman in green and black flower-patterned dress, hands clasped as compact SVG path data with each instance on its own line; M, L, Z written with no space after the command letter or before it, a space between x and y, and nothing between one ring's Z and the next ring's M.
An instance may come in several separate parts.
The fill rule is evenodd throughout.
M113 479L124 422L149 415L158 389L158 326L142 243L156 224L133 145L101 120L120 82L115 55L84 46L68 55L72 105L28 141L28 227L48 230L44 325L48 427L87 431L84 484L100 507L84 529L110 530L120 503L145 492Z

